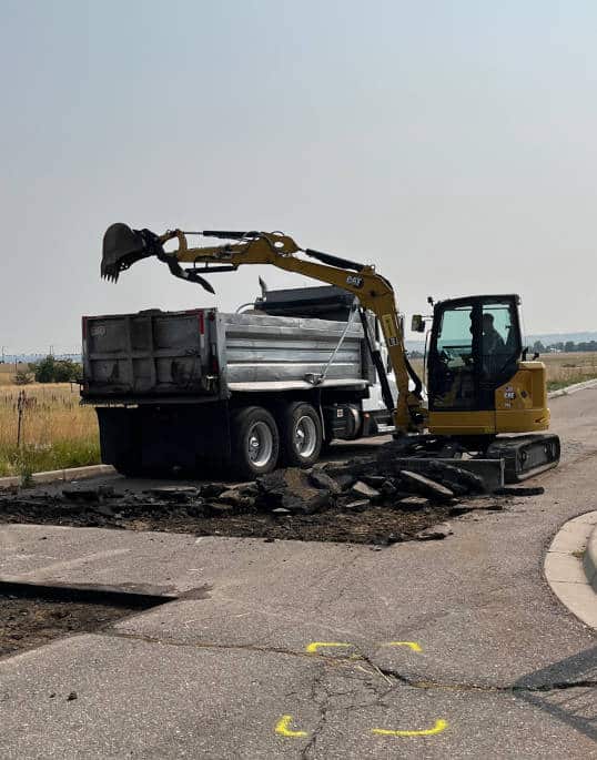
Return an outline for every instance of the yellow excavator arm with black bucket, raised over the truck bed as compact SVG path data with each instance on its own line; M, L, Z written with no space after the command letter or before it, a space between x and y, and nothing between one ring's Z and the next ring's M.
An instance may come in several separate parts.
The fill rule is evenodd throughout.
M190 247L188 235L235 242ZM178 249L164 251L164 244L173 240L178 241ZM315 261L307 261L296 255L298 253ZM353 293L358 297L363 308L375 314L382 326L398 388L397 405L393 411L396 432L406 434L423 429L425 409L421 396L422 384L406 356L394 291L388 281L377 274L373 266L312 249L301 249L292 237L280 232L171 230L163 235L155 235L149 230L135 231L125 224L113 224L104 235L102 277L115 282L122 271L150 256L156 256L165 263L174 276L200 284L210 293L214 292L213 287L203 275L231 272L243 264L269 264ZM192 266L183 268L181 264ZM414 391L409 389L411 378L415 383Z

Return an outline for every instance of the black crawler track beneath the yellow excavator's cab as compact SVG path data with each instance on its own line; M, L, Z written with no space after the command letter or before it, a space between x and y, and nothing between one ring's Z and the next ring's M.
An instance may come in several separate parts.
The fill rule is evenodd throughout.
M487 447L490 459L504 459L506 483L523 483L559 462L560 445L557 435L523 435L497 438Z

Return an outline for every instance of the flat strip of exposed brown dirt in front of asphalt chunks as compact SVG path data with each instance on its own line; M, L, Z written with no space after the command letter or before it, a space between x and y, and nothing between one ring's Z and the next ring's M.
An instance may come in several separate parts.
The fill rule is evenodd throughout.
M196 536L387 545L417 538L443 538L448 529L433 530L433 526L470 509L503 509L504 501L504 497L495 497L469 505L442 505L421 499L421 504L403 507L399 504L396 507L370 505L355 510L332 507L313 514L237 511L226 508L217 514L215 509L224 505L205 508L203 504L196 506L192 500L176 504L143 494L102 498L94 504L21 494L0 497L0 521L191 533Z

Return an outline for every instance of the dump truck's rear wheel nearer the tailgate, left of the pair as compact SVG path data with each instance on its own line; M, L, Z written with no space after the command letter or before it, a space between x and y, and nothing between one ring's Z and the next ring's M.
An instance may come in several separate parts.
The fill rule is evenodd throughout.
M234 474L247 480L275 469L280 434L267 409L249 406L232 416L231 455Z

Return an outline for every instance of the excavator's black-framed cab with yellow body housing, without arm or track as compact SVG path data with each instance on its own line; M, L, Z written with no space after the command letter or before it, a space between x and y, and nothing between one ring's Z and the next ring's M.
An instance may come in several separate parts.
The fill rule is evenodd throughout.
M434 306L428 355L429 430L496 435L545 430L545 365L523 349L517 295Z

